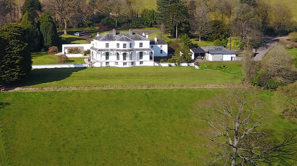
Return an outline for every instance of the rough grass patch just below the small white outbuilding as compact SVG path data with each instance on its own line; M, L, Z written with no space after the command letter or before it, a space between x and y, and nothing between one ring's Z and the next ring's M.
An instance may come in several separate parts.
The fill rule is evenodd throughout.
M205 62L199 63L199 68L242 75L241 64L241 62Z

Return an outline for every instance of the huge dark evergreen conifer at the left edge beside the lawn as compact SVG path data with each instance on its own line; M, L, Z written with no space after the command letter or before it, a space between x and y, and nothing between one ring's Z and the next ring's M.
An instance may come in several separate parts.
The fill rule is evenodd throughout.
M0 34L0 84L5 84L29 74L32 58L22 24L8 23L0 28Z

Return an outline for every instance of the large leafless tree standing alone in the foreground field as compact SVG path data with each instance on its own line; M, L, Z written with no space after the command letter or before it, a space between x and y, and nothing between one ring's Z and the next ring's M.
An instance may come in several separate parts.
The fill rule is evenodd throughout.
M248 135L261 133L255 129L262 125L263 116L257 115L255 121L251 119L259 109L259 105L252 101L254 96L248 89L238 89L224 98L217 97L214 103L198 106L202 121L211 127L209 133L203 134L211 141L212 147L221 149L221 152L213 153L214 158L208 160L209 165L222 159L226 161L225 165L230 159L231 166L238 165L236 159L240 157L240 144Z

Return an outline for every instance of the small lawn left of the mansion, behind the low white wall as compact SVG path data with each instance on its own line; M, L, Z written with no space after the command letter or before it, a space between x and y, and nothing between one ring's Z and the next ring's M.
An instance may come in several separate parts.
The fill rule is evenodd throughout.
M46 52L33 52L33 65L52 65L52 64L84 64L84 58L69 58L67 63L58 63L58 55L48 55Z

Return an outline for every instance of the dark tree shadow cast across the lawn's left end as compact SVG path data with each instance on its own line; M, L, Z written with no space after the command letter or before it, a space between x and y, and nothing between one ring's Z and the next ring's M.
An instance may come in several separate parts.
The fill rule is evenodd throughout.
M17 82L5 85L6 89L12 89L15 87L24 87L37 85L47 82L60 81L69 77L72 73L84 70L86 68L44 68L34 69L31 73Z

